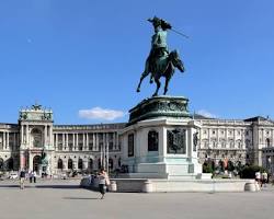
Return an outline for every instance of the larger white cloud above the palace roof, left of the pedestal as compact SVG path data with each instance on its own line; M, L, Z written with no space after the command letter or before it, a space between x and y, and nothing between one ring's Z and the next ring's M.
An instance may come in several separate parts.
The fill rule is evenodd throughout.
M114 120L116 118L125 116L125 113L122 111L114 111L110 108L101 108L99 106L90 110L80 110L79 117L88 119L104 119L104 120Z

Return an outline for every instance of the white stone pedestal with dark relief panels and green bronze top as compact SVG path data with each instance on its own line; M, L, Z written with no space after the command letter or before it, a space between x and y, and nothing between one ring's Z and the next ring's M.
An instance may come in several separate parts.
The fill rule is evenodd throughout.
M196 178L196 132L199 124L187 111L185 97L157 96L129 111L128 126L122 132L123 161L129 177Z

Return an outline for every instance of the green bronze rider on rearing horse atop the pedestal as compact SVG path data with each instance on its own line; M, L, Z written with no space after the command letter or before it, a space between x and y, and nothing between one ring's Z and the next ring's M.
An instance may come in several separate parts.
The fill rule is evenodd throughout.
M180 59L176 50L169 51L167 45L168 30L172 30L172 26L162 19L155 16L148 19L152 23L155 34L151 39L151 49L146 60L145 71L141 73L140 81L137 88L137 92L140 92L140 84L142 80L150 74L150 83L153 81L157 84L156 92L152 96L158 95L158 91L161 87L160 78L165 78L164 92L165 95L169 89L169 82L172 78L175 68L181 72L184 72L183 61Z

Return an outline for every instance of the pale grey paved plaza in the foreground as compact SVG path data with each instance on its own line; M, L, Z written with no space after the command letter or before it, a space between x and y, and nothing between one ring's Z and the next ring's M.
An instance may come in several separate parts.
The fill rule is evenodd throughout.
M274 186L259 193L107 193L79 188L79 181L0 182L0 218L272 218Z

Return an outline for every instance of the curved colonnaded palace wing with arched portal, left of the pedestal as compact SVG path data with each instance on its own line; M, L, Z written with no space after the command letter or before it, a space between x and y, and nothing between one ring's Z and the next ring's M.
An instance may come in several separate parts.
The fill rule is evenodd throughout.
M53 112L39 105L20 112L19 124L0 124L0 171L110 171L121 165L118 131L125 124L54 125ZM42 151L47 170L42 170Z

